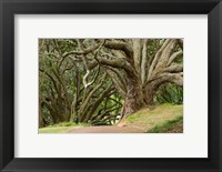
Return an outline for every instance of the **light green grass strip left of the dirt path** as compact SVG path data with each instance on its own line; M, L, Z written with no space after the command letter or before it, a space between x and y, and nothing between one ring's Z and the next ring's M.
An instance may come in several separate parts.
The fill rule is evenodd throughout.
M61 122L39 129L39 133L68 133L73 127L90 127L88 123Z

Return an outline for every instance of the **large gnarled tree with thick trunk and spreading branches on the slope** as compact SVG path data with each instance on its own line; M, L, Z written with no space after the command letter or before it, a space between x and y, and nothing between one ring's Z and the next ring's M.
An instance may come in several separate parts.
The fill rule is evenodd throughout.
M176 62L183 54L181 39L95 39L81 42L84 44L81 51L68 54L84 55L85 79L97 65L107 68L124 99L124 115L152 105L161 84L172 82L183 85L183 64ZM93 54L93 58L87 58L88 54Z

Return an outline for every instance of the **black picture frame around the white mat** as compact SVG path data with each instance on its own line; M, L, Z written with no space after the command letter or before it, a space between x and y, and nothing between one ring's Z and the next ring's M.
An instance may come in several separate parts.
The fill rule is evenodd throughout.
M208 159L14 158L14 14L208 14ZM0 0L1 171L222 171L222 3L220 0ZM201 122L201 120L200 120ZM32 146L32 145L30 145ZM34 148L33 148L34 149Z

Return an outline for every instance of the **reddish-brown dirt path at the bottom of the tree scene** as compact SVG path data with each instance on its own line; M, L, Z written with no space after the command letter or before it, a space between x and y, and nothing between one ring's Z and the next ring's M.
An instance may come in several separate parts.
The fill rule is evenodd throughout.
M143 133L143 131L132 127L87 127L73 128L70 133Z

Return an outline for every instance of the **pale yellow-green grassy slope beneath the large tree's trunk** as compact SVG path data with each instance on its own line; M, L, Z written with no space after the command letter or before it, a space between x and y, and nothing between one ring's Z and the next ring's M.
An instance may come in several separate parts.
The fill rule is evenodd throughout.
M174 104L161 104L152 109L144 108L137 113L127 117L123 121L127 125L134 125L142 129L144 132L153 131L158 132L155 128L170 128L170 125L175 125L174 120L180 120L183 118L183 105ZM181 121L181 120L180 120ZM182 122L182 121L181 121ZM164 132L163 130L160 132ZM167 130L165 130L167 132Z

